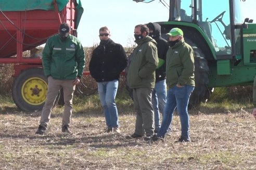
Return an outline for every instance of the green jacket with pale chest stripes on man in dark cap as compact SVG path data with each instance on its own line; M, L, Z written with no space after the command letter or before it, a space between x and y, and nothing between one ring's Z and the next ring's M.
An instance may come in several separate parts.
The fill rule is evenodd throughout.
M48 38L42 57L45 76L57 80L71 80L82 77L85 66L83 47L73 35L61 41L59 35Z

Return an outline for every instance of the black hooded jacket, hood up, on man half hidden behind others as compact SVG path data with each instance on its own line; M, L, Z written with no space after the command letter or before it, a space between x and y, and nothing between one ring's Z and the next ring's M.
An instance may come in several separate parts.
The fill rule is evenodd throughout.
M150 27L150 29L153 31L153 34L151 35L151 37L157 41L157 54L158 54L159 64L161 63L161 59L164 62L164 64L162 64L160 67L157 67L156 69L156 82L158 82L166 78L165 63L166 63L166 54L169 49L169 46L167 44L167 40L161 37L161 26L158 23L149 22L147 26Z

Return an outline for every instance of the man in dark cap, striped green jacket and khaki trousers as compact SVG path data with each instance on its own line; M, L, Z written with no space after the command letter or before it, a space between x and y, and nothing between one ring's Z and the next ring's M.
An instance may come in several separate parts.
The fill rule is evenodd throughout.
M48 92L36 134L45 133L54 101L61 88L65 102L61 131L69 133L73 93L85 66L83 46L78 38L70 35L69 24L60 24L59 34L48 38L43 50L42 62L44 74L48 79Z

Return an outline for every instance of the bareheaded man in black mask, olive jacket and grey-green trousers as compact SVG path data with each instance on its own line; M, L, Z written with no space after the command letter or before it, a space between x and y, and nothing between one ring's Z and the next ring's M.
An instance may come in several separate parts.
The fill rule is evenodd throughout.
M133 51L133 59L127 74L128 86L133 89L133 102L136 111L135 131L129 136L151 140L154 134L154 112L151 103L152 91L155 87L155 70L158 66L157 43L148 36L146 25L136 25L134 29L137 47Z

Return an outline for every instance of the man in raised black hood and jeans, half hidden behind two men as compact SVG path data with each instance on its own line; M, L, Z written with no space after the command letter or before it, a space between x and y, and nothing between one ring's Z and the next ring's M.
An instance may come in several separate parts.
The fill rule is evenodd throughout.
M169 49L167 40L161 37L161 26L158 23L149 22L147 24L149 36L157 41L158 67L156 69L156 84L152 92L152 106L155 116L155 133L160 129L160 113L163 113L163 108L166 104L167 86L166 86L166 71L165 61L166 54ZM170 129L169 129L170 131Z

